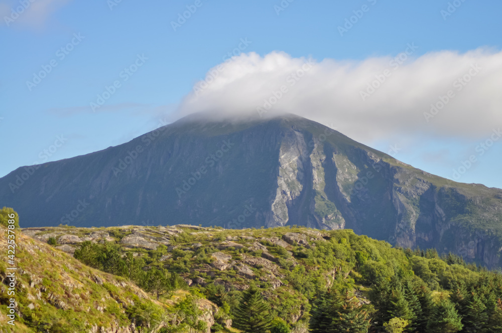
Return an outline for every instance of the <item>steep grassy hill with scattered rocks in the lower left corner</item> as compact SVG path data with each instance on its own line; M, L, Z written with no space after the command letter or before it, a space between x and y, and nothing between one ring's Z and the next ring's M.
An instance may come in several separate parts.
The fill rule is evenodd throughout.
M0 260L0 332L135 333L168 325L187 291L156 300L129 279L82 264L71 255L21 233L16 235L13 267ZM0 225L0 253L7 256L7 228ZM8 294L14 290L15 294ZM8 322L15 299L14 325ZM201 320L210 327L217 306L199 299ZM184 332L182 330L180 332ZM188 331L188 330L186 330Z

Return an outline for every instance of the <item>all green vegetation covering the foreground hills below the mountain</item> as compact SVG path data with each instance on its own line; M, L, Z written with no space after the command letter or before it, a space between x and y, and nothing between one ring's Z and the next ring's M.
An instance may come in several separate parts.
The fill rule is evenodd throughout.
M502 333L502 276L453 254L392 248L351 230L133 229L71 229L79 237L99 230L114 240L78 243L74 257L80 262L19 234L23 246L16 256L24 273L16 287L17 320L24 330L18 331L135 322L141 332L199 332L212 316L215 332L233 331L231 324L271 333L305 327L328 333ZM70 231L41 233L57 239ZM121 244L131 233L164 244ZM0 250L6 247L7 237L0 235ZM0 261L0 274L6 272ZM0 296L0 315L8 313L6 297Z

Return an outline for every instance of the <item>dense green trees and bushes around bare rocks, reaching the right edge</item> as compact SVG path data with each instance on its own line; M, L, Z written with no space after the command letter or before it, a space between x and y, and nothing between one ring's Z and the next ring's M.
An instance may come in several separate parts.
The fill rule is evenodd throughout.
M225 231L219 236L223 239ZM184 245L191 240L178 237L178 242ZM249 281L252 287L248 291L225 290L214 283L196 288L224 309L235 327L249 332L276 329L273 323L283 326L283 331L289 331L290 324L303 323L312 332L502 332L502 276L497 273L467 265L452 254L439 256L436 250L393 249L350 230L326 232L322 241L309 247L296 248L292 255L276 249L278 264L288 272L286 280L295 291L292 297L281 295L280 301L273 300L270 285L260 281ZM210 262L208 255L215 251L200 246L187 256L178 250L173 253L176 264L161 264L157 259L167 253L162 246L148 256L134 258L131 253L122 255L114 244L84 242L75 258L128 277L159 297L186 287L179 274L190 271L196 262ZM327 272L332 279L326 279ZM271 300L262 300L260 294ZM249 301L253 297L259 300ZM368 302L361 301L364 299ZM247 308L243 309L244 304ZM290 308L298 305L304 308L300 320L277 319L288 319ZM252 320L262 326L249 326ZM222 328L221 321L213 327Z

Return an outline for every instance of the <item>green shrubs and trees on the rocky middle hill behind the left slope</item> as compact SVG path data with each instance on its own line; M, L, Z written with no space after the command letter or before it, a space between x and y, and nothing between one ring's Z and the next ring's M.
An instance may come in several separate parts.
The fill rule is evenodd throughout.
M295 241L286 248L278 246L274 237L280 239L288 233L306 236L308 245ZM239 247L219 250L218 244L228 238L235 238ZM256 241L265 249L249 248ZM171 237L171 243L176 247L170 251L159 246L133 259L130 250L118 245L84 242L75 257L84 260L83 252L94 253L84 262L131 276L154 296L180 287L172 283L163 287L168 274L181 284L182 278L204 281L190 290L199 290L220 308L213 330L223 329L228 318L245 332L294 331L305 324L313 332L376 329L428 333L437 327L448 332L483 332L502 327L502 277L468 265L453 254L439 256L434 249L393 249L386 242L357 236L350 230L319 233L296 226L218 228L198 233L183 230ZM200 245L194 248L194 244ZM238 266L212 267L215 259L211 255L218 251L231 260L250 264L252 273L246 274L254 277L239 273ZM166 253L170 255L160 262ZM265 259L270 256L275 262ZM123 273L121 260L132 260L126 266L146 272L145 276ZM150 284L145 282L149 280Z

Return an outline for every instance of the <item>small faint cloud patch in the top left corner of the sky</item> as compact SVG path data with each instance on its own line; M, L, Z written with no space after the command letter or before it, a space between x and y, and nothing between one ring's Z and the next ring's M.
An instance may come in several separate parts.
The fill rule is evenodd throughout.
M5 22L9 27L23 26L39 29L45 26L52 13L69 3L71 0L34 0L4 1L0 3L0 16L13 19ZM24 5L23 5L24 4ZM15 14L13 14L13 12Z

